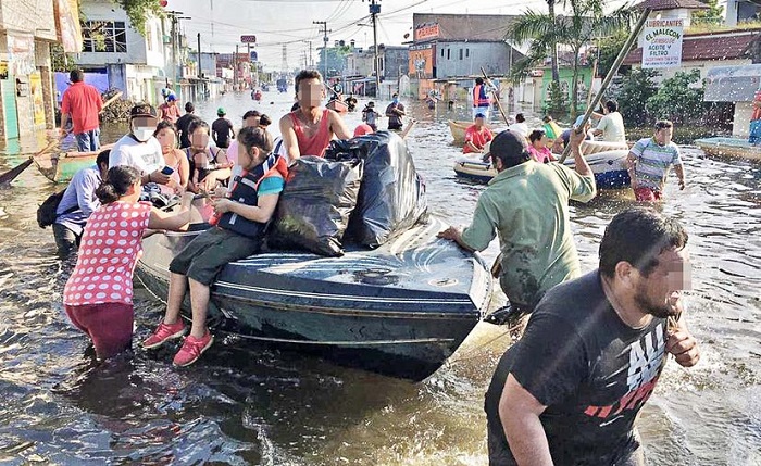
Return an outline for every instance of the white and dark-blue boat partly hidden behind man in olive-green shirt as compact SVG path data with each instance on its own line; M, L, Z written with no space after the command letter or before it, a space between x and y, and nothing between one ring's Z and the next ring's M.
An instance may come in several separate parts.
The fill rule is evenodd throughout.
M597 189L624 189L629 187L628 172L624 162L628 150L613 150L597 152L584 158L595 174ZM569 168L574 168L573 159L563 162ZM461 178L476 182L489 182L497 175L497 171L489 162L483 162L479 156L462 156L454 162L454 173Z

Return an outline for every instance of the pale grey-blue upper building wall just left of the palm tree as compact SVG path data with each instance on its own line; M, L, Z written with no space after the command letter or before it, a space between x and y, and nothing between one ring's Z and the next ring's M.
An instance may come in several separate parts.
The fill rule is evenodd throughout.
M506 75L510 72L510 50L506 42L440 41L436 45L436 78L481 75L482 66L489 75Z

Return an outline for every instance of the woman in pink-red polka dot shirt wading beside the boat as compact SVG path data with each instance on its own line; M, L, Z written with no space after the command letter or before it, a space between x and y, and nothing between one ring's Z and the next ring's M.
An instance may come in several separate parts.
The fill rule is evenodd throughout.
M140 188L136 168L109 169L96 190L101 206L87 221L76 267L63 290L68 318L92 339L99 358L132 343L133 270L146 229L178 230L190 222L191 192L183 196L179 213L169 214L138 202Z

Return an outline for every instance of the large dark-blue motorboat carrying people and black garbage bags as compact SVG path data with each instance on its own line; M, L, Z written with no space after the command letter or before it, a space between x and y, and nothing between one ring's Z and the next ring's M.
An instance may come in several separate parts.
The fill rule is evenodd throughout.
M204 228L191 227L144 240L136 276L151 293L166 295L170 261ZM423 380L462 343L491 295L481 256L436 238L446 227L432 217L375 250L345 244L341 257L272 251L233 262L211 288L210 314L221 316L212 331Z

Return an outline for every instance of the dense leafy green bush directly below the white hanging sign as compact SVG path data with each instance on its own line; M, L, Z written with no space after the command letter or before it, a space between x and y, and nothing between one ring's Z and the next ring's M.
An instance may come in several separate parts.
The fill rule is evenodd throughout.
M658 92L647 100L647 112L656 119L674 123L698 122L703 116L703 88L694 86L700 81L700 71L677 72L664 79Z

